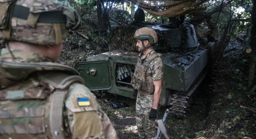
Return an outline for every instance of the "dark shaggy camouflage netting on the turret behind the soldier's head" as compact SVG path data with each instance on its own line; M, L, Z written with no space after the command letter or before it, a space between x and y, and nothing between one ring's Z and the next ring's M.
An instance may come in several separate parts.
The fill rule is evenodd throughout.
M113 29L110 36L110 50L123 49L131 52L137 52L138 48L135 46L134 33L137 29L144 26L134 26L134 25L123 25L118 26ZM165 52L168 52L169 41L166 35L158 34L158 46L162 46Z

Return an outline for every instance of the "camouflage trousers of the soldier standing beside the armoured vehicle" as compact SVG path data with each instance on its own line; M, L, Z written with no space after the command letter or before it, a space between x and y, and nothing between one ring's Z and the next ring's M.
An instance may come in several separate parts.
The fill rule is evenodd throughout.
M156 135L155 119L148 119L154 95L138 93L136 101L136 125L140 139L151 139Z

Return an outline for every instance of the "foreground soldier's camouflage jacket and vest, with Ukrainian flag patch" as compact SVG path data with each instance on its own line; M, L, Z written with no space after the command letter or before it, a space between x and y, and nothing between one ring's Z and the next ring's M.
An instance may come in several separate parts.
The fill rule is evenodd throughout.
M1 138L118 138L83 83L73 68L52 63L40 54L2 49Z

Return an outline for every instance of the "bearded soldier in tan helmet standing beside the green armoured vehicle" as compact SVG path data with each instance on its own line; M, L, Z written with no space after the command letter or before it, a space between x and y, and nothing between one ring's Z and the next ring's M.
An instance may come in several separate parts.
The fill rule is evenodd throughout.
M141 52L131 81L133 96L137 96L136 125L141 139L151 139L156 135L155 118L164 78L164 64L162 55L155 53L152 47L158 40L155 30L142 27L135 32L134 38Z

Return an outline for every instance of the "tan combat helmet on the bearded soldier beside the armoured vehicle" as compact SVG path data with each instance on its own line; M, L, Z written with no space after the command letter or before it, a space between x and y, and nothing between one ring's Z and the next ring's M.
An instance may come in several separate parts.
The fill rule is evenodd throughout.
M143 51L145 51L147 48L149 48L151 45L154 45L158 41L157 33L155 32L154 29L150 27L142 27L138 29L134 33L134 38L135 39L140 39L142 41L142 46L143 46ZM149 40L150 46L145 47L143 40Z

